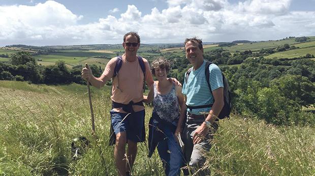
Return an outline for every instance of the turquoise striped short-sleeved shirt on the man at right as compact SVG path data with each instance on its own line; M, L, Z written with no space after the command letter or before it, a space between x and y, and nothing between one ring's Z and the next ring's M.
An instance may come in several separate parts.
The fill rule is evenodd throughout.
M186 81L184 81L182 93L187 97L186 105L188 106L213 104L213 96L210 93L209 86L206 81L205 66L206 61L203 61L203 64L197 70L192 69L187 83ZM223 87L223 78L219 67L215 64L211 64L209 66L209 71L211 90L213 91L218 89L219 87ZM197 115L201 113L209 113L209 111L210 107L193 109L192 111L188 109L188 112Z

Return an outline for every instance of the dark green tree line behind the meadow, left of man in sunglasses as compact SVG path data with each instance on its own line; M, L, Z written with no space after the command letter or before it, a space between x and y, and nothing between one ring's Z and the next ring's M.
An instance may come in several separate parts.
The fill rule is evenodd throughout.
M69 69L64 61L54 65L38 65L35 58L28 52L18 52L11 56L9 62L0 62L0 80L29 81L32 83L67 84L76 82L84 84L81 78L83 66L78 65ZM90 65L95 76L103 71L100 66Z

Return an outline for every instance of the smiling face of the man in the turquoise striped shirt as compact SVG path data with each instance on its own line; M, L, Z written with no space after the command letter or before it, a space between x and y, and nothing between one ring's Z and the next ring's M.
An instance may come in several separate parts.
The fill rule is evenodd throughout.
M188 41L185 45L186 58L195 67L203 63L203 48L199 48L198 43Z

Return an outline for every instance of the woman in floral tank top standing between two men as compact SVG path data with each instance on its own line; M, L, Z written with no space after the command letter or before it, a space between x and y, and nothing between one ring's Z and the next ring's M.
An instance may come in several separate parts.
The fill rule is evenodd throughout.
M148 96L144 96L144 102L153 101L149 122L149 156L157 145L165 174L180 175L183 155L178 135L182 131L186 107L181 87L167 78L169 71L170 63L163 58L151 65L151 72L157 80L150 87Z

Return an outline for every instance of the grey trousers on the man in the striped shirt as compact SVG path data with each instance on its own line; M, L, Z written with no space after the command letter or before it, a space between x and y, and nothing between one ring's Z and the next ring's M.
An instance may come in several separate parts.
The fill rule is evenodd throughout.
M189 114L187 114L186 125L183 130L183 142L185 144L185 159L186 162L189 162L189 165L193 167L191 170L193 173L197 175L210 175L209 170L200 168L206 161L204 157L204 153L209 151L211 148L211 140L213 139L213 134L217 130L218 125L216 123L213 124L213 128L209 128L208 133L205 139L199 143L193 144L193 136L195 134L195 130L205 121L205 118L192 118ZM200 169L200 170L199 170Z

